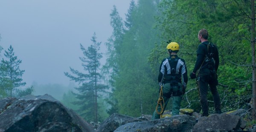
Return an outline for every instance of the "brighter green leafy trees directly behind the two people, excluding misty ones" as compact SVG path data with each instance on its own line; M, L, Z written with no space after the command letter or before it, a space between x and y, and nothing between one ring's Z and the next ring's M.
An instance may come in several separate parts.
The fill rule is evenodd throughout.
M157 17L158 28L163 31L163 41L170 39L180 44L180 57L186 61L188 72L192 72L198 47L197 34L202 28L209 32L209 40L219 49L220 66L218 69L218 91L224 110L244 107L251 95L250 53L250 2L237 0L162 0L159 5L161 15ZM158 56L163 56L159 47L152 50L151 67L155 70ZM159 51L159 52L157 52ZM241 54L242 53L242 54ZM196 87L194 80L189 80L187 90ZM188 93L189 106L200 111L197 92ZM210 107L213 107L211 94L208 94ZM196 105L194 105L196 104ZM212 108L210 108L212 109Z

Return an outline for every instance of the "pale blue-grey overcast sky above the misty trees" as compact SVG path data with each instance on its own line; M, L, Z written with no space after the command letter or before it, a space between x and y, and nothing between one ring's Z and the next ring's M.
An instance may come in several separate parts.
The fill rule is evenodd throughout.
M110 14L113 5L125 20L131 0L1 0L0 46L12 45L22 60L23 81L31 86L58 83L68 85L64 72L69 67L82 71L79 44L105 42L112 34ZM103 60L103 63L105 61Z

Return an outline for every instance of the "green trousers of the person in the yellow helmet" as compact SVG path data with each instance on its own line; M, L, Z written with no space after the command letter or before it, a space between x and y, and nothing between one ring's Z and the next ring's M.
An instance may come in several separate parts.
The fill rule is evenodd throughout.
M178 86L171 86L170 83L166 83L163 86L163 100L164 100L164 108L163 111L166 109L166 106L169 102L170 96L174 92L182 92L182 88ZM172 97L172 115L179 115L180 114L180 103L182 100L182 95L180 96L173 96ZM158 105L157 112L161 111L161 106ZM156 110L154 111L151 120L159 119L160 114L157 114Z

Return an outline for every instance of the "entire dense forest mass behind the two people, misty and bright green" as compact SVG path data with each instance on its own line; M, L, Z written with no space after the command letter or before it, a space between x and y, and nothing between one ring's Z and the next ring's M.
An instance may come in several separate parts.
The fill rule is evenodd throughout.
M252 93L249 14L250 2L246 0L139 0L137 5L132 0L123 24L114 7L113 34L107 43L106 67L112 87L109 114L151 114L159 96L159 65L169 56L166 41L179 43L178 55L186 61L189 74L200 44L198 31L203 28L219 51L217 88L223 111L247 107ZM195 80L189 79L186 91L190 92L181 106L200 112L196 87ZM210 93L208 100L213 112Z

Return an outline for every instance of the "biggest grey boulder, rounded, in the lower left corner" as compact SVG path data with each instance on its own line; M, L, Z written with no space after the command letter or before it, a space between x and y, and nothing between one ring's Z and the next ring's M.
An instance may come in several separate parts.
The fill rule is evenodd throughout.
M50 95L0 100L0 132L94 132Z

